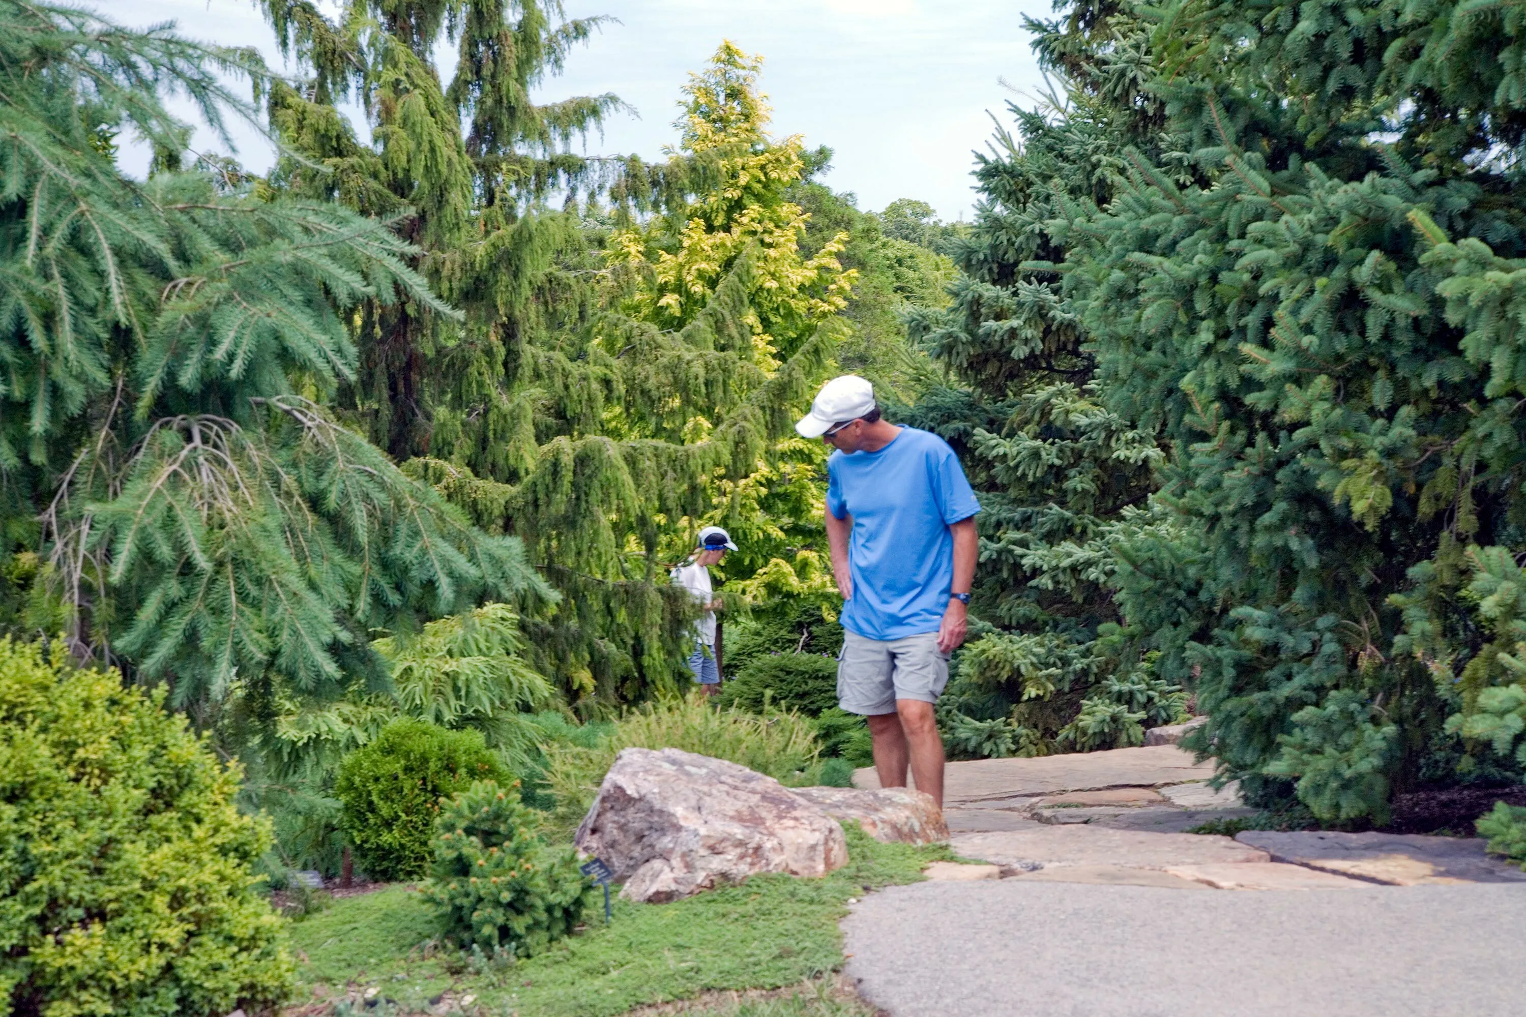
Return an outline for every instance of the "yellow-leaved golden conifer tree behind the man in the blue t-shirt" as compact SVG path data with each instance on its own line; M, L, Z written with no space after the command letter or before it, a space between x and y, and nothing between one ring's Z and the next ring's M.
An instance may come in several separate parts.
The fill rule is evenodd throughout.
M858 271L838 261L848 242L845 230L821 238L810 253L801 250L810 217L789 198L810 171L809 162L824 154L804 152L798 136L768 136L768 96L757 84L761 63L723 41L710 66L690 75L676 125L682 134L671 154L723 152L719 180L667 215L618 232L609 261L630 274L624 311L671 329L708 306L737 259L749 258L745 323L751 351L739 349L734 361L717 366L769 377L821 326L832 322L838 334L844 331L833 319L847 306ZM696 415L684 427L707 435L713 424L710 415ZM824 473L826 448L790 435L763 450L746 476L716 479L705 521L726 526L739 541L717 573L751 605L768 611L789 604L790 613L813 608L819 618L832 601L835 585L818 525ZM688 531L674 534L667 547L671 557L687 553L688 538Z

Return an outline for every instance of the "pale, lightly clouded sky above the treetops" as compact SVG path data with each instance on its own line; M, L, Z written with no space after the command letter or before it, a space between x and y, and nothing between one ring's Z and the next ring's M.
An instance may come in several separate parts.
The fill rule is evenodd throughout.
M282 66L252 0L87 3L134 27L175 21L191 38L253 44L273 67ZM673 120L688 72L729 38L765 56L772 133L801 134L807 146L833 149L823 178L829 186L853 192L865 210L919 198L945 220L969 218L972 151L986 149L990 114L1006 124L1009 99L1030 105L1044 88L1022 15L1045 17L1050 6L1050 0L566 0L569 17L607 15L618 23L604 24L574 52L537 99L613 91L636 116L615 114L601 139L588 139L586 151L661 159L662 146L678 137ZM452 58L444 67L453 64ZM258 131L241 125L233 134L249 169L269 168L272 149ZM224 148L204 130L192 146ZM128 146L124 168L140 174L146 159L140 146Z

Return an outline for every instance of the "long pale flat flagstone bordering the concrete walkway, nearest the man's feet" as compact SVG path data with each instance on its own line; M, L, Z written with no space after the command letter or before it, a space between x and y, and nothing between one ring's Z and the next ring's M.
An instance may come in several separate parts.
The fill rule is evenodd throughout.
M1108 829L1093 825L1048 826L1030 823L1025 829L954 834L954 851L966 858L1015 869L1047 869L1071 865L1120 865L1135 869L1164 869L1173 865L1270 861L1265 851L1236 843L1228 837L1198 834L1154 834L1134 829Z

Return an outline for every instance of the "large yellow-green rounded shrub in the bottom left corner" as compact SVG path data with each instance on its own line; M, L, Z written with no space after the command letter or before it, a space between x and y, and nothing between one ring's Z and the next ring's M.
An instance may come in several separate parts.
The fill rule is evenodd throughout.
M116 672L0 639L0 1014L226 1014L279 1003L264 823L238 772Z

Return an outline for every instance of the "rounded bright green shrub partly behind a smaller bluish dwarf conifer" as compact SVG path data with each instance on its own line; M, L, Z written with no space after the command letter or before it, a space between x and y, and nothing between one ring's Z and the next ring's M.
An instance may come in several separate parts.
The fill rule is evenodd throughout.
M356 863L375 880L417 880L429 871L439 799L473 781L513 778L478 730L397 720L345 756L334 793Z

